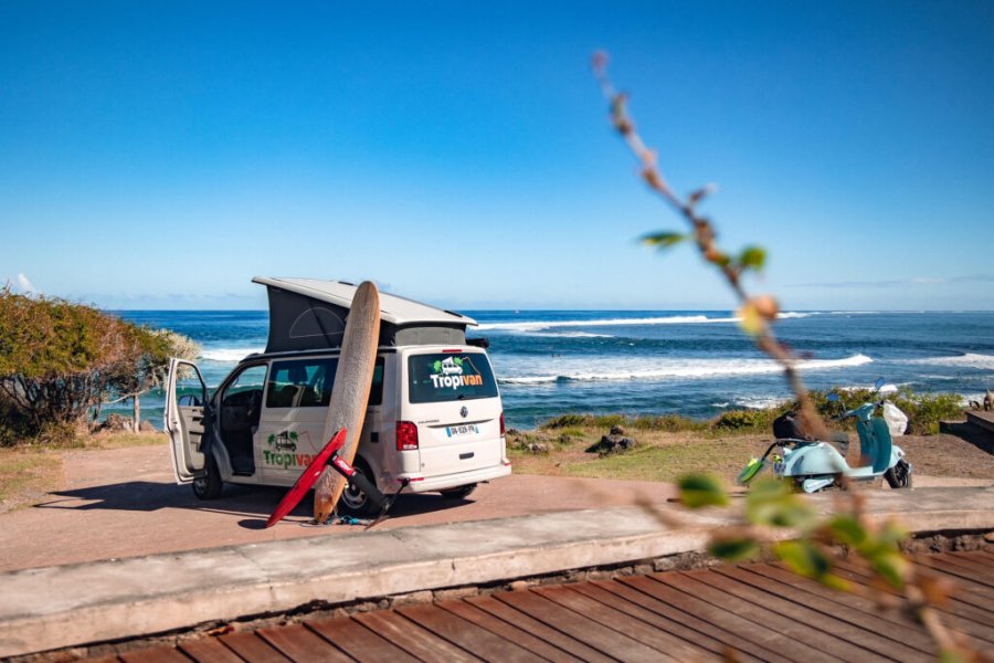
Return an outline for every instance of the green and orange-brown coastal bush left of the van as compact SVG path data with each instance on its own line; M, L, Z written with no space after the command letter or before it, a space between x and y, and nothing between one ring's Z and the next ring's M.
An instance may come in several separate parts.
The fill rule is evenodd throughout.
M71 443L107 402L159 386L190 339L121 320L92 306L0 290L0 445Z

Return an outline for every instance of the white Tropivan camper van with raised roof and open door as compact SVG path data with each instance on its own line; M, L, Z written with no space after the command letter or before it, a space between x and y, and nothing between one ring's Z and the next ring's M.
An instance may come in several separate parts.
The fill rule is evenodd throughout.
M265 278L269 336L213 393L197 366L173 359L166 431L176 480L202 499L223 484L290 486L327 440L345 320L356 286L311 278ZM380 294L380 341L355 466L394 493L467 496L510 474L504 409L486 350L466 339L476 322ZM372 504L347 488L339 512L366 516Z

